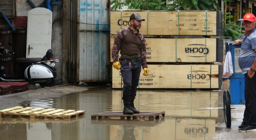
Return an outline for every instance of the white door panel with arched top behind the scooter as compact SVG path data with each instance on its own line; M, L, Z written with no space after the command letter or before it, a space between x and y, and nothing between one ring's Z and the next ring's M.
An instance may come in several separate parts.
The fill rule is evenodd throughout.
M51 49L52 12L34 8L28 12L27 58L43 57Z

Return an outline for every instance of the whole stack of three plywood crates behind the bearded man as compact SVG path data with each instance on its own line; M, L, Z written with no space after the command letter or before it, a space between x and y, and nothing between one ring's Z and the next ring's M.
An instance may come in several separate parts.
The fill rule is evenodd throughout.
M139 13L146 40L148 76L138 88L220 88L223 61L220 11L111 11L111 35L130 26ZM110 40L110 53L114 38ZM120 56L120 54L119 54ZM113 59L111 58L111 62ZM215 63L216 64L216 63ZM122 88L120 70L112 69L112 87Z

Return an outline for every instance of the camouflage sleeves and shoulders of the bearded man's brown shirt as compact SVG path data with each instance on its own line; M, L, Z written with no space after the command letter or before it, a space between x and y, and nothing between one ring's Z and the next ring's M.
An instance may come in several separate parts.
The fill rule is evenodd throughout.
M114 45L112 48L112 58L113 58L113 62L118 61L118 53L120 51L121 45L122 45L122 40L125 37L125 35L129 32L133 32L133 30L128 27L128 28L124 28L121 29L117 35L116 38L114 40ZM139 30L137 31L136 34L139 34L141 43L140 43L140 57L142 59L142 68L147 68L147 52L146 52L146 40L144 39L144 36L139 32Z

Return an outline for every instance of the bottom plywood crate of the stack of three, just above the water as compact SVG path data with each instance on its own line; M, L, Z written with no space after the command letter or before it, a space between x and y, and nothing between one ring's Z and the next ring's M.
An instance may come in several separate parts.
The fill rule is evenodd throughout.
M223 65L148 65L147 76L141 70L138 88L217 89L222 84L222 69ZM112 88L122 88L121 71L113 68L112 75Z

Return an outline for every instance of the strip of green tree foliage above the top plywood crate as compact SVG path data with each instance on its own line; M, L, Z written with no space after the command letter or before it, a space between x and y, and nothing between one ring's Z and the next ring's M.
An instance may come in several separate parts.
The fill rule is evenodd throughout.
M216 0L166 0L172 2L166 6L165 0L113 0L111 10L128 6L130 10L217 10ZM224 4L234 0L223 0Z

